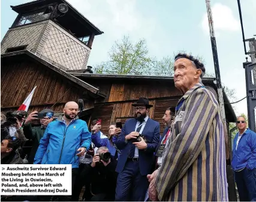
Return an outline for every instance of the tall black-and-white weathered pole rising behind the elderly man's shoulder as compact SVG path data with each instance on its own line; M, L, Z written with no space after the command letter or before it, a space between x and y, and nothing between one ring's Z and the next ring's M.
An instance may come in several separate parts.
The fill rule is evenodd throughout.
M210 8L210 0L206 0L206 8L207 8L207 15L209 20L210 41L212 43L212 55L213 55L213 62L214 62L214 68L215 68L216 86L218 89L219 107L221 110L221 119L224 123L224 126L226 126L223 92L221 87L221 74L219 73L219 60L218 60L217 46L216 46L216 40L215 40L215 34L214 34L214 28L213 28L212 9Z

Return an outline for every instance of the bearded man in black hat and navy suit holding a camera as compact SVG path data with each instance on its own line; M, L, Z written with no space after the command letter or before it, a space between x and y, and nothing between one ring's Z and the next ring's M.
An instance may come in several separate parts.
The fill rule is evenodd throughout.
M149 182L153 154L159 143L160 126L149 118L147 98L139 98L135 107L135 117L125 122L122 132L115 141L121 155L116 171L119 173L116 185L116 201L143 201ZM140 137L140 135L143 137Z

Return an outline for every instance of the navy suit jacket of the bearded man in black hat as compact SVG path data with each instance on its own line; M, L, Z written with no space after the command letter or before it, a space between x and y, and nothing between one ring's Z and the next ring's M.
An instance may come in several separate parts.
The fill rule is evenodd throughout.
M119 156L118 165L116 167L116 171L118 173L121 173L122 170L124 170L125 163L127 162L129 151L132 146L131 141L125 143L125 136L135 130L136 123L136 119L128 119L122 128L122 132L115 141L116 146L121 150L121 155ZM147 148L146 150L138 150L138 164L140 167L140 173L144 176L151 173L152 164L155 163L153 156L156 147L158 147L160 138L159 123L155 120L147 119L146 125L143 129L143 135L147 139Z

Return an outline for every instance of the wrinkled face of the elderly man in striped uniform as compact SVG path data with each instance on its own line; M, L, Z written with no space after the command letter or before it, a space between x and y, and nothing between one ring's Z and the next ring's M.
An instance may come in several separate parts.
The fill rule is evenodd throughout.
M174 84L179 90L190 89L197 73L192 61L186 58L177 59L174 62Z

